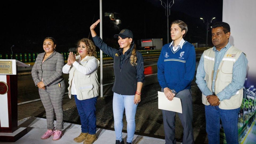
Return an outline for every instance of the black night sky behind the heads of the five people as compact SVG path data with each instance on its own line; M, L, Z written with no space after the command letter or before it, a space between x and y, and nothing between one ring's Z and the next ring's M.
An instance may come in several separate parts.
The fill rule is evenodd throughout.
M167 17L159 0L103 0L102 8L103 41L110 46L117 46L113 35L120 30L111 28L105 12L119 13L122 22L119 29L133 31L135 42L143 38L163 38L163 43L167 43ZM45 37L54 37L58 42L57 51L64 52L75 47L79 39L88 37L90 25L99 19L99 0L10 1L1 5L1 14L1 54L10 54L12 45L15 45L13 53L42 53ZM213 23L222 21L222 0L174 0L169 24L175 19L184 21L189 28L184 39L205 43L206 26L200 17L216 17ZM99 25L96 32L99 35ZM208 41L211 44L210 33Z

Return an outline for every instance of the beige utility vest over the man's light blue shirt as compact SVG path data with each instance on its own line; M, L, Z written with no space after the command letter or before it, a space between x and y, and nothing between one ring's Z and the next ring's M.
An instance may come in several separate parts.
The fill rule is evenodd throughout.
M222 61L219 64L217 75L215 78L215 94L221 92L226 86L232 82L233 77L233 66L237 61L242 51L238 50L234 46L231 46L225 53ZM203 52L204 58L204 69L205 69L205 81L207 87L212 91L211 86L213 82L213 72L214 72L214 62L215 62L215 52L213 48L205 50ZM225 99L220 102L219 108L230 110L237 109L241 106L243 99L243 89L237 91L230 99ZM206 96L202 94L202 103L204 105L210 105L207 101Z

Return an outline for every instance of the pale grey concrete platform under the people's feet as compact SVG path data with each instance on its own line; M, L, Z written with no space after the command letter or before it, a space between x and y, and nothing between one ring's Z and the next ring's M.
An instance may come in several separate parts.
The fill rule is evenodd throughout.
M54 124L56 121L54 121ZM46 131L46 119L34 117L26 121L21 121L18 123L19 127L27 127L27 134L24 135L16 142L0 142L0 143L16 143L16 144L45 144L45 143L76 143L73 141L81 133L81 125L66 123L64 122L64 135L61 139L53 141L51 136L48 139L41 139L41 136ZM115 131L97 129L96 135L98 137L94 144L114 144L115 143ZM123 133L124 141L126 142L127 133ZM165 144L164 139L145 137L141 135L134 135L133 144ZM177 142L180 144L180 142Z

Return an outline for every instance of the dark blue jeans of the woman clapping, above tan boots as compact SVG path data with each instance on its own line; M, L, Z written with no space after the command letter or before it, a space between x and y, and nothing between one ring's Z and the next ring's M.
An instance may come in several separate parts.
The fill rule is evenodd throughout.
M82 133L96 134L96 102L98 97L79 100L74 95L78 114L81 120Z

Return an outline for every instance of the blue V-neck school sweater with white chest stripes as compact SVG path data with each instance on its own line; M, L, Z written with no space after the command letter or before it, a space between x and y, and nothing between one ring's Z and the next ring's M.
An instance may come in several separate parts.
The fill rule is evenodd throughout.
M182 48L173 51L170 43L164 45L157 62L157 78L164 89L179 91L191 89L195 74L195 48L185 41Z

